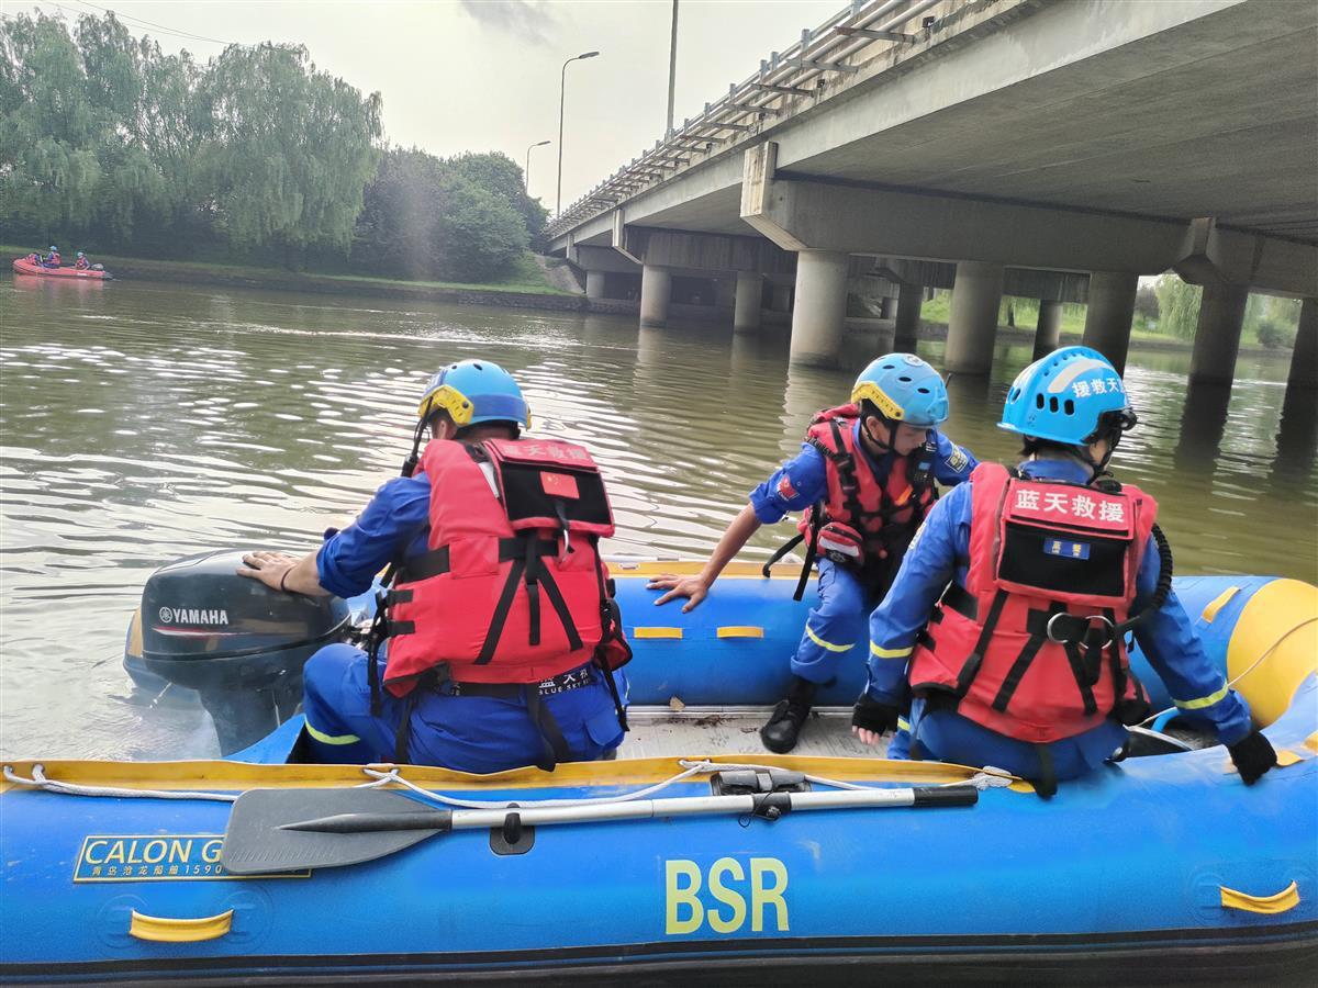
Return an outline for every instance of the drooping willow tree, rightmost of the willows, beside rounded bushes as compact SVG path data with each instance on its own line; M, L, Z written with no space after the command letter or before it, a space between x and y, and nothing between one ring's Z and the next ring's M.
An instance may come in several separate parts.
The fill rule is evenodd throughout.
M347 252L376 170L380 94L318 72L307 50L231 45L203 80L216 223L236 246Z

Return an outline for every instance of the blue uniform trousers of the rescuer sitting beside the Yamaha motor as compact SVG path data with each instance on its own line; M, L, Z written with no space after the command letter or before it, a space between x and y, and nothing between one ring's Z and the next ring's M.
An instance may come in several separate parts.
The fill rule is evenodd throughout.
M348 644L326 645L303 668L303 707L316 761L393 761L398 725L407 709L381 689L381 713L370 713L366 653ZM384 659L381 659L384 668ZM604 757L622 743L622 727L604 674L542 697L567 742L572 761ZM627 681L614 672L626 702ZM546 742L521 698L449 696L424 689L411 711L409 761L460 772L501 772L539 763Z

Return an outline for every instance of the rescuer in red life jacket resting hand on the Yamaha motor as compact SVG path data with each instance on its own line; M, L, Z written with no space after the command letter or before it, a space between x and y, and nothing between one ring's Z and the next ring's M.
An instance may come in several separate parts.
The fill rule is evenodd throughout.
M368 651L326 645L303 671L318 760L552 769L622 742L631 651L597 547L613 534L604 481L583 447L529 427L511 374L452 364L426 389L403 476L351 526L301 560L244 556L243 576L311 595L365 593L389 566Z

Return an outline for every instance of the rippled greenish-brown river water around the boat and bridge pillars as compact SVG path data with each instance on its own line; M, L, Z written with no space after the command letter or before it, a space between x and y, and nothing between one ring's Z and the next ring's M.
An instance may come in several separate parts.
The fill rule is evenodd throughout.
M693 557L882 345L851 337L847 371L789 369L783 332L0 282L0 755L214 754L199 709L132 694L120 668L142 582L182 555L302 552L343 526L397 473L418 395L443 364L503 364L538 432L594 452L619 523L610 552ZM942 346L920 353L937 366ZM1028 344L1003 344L990 379L950 382L946 432L981 458L1015 452L994 423L1028 360ZM1186 352L1132 353L1141 425L1118 477L1161 502L1178 573L1315 580L1313 397L1282 414L1286 358L1243 356L1230 394L1188 394L1188 364ZM746 556L789 534L762 530Z

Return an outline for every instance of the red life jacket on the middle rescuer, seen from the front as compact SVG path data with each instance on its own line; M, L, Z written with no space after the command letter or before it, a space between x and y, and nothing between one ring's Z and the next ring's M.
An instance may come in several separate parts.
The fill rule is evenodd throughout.
M880 485L865 451L857 447L859 415L857 406L842 404L825 408L811 419L805 441L824 454L828 494L805 511L797 530L815 537L816 549L837 563L855 555L846 545L853 541L858 543L855 548L865 569L887 570L891 563L900 561L937 497L931 477L932 449L925 445L912 456L892 457L887 481ZM812 536L812 532L818 535ZM890 556L891 563L887 561Z

